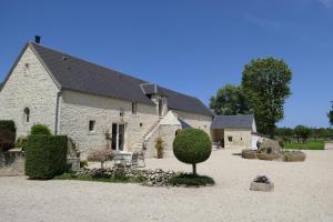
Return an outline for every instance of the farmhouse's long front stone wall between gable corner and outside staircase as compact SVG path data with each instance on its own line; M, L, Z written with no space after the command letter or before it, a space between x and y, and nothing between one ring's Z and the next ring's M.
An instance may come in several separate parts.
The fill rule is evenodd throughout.
M78 143L83 159L91 149L107 148L105 132L112 132L112 123L125 124L124 151L131 151L135 143L143 142L144 133L159 120L154 105L138 103L138 112L132 114L131 101L74 91L62 92L60 107L59 131ZM95 121L94 132L89 131L90 120Z

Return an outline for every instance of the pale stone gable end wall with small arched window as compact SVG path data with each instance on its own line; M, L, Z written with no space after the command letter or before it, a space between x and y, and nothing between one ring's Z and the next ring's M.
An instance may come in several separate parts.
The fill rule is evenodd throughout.
M31 125L56 125L58 88L34 52L28 47L0 92L0 120L13 120L17 138L27 135ZM30 121L24 109L30 109Z

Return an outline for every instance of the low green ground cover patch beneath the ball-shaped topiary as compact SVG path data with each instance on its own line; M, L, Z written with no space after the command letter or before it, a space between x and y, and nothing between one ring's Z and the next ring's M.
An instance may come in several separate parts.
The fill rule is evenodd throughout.
M213 185L214 180L206 175L181 174L169 180L171 185L202 186Z

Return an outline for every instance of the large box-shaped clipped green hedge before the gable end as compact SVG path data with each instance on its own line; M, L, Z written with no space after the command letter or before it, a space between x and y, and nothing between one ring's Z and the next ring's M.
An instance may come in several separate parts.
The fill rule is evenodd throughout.
M26 175L52 179L67 171L65 135L29 135L26 151Z

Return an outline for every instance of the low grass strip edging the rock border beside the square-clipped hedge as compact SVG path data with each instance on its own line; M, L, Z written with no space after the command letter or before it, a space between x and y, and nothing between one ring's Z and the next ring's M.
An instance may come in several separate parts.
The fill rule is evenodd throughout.
M130 180L125 178L92 178L91 175L78 176L74 173L63 173L57 175L53 180L78 180L78 181L94 181L94 182L110 182L110 183L140 183L141 180Z

